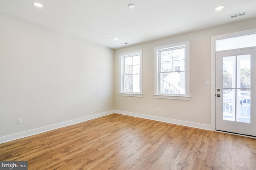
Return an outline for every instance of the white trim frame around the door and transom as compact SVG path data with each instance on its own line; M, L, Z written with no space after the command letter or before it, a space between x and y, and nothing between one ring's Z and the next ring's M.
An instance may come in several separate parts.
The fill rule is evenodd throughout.
M211 131L216 130L216 40L224 39L228 37L236 37L239 35L246 35L250 33L255 33L256 29L249 29L245 31L239 31L234 33L216 35L211 37ZM244 136L244 135L242 135Z

